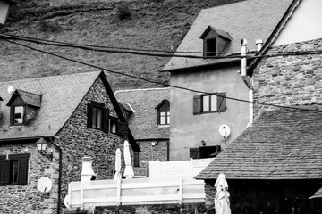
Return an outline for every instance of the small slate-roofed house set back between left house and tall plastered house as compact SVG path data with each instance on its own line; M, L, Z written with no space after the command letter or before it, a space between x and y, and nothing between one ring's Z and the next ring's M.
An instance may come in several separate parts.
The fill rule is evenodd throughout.
M114 93L128 115L141 152L134 152L134 174L148 176L148 161L169 161L170 89L144 88Z

